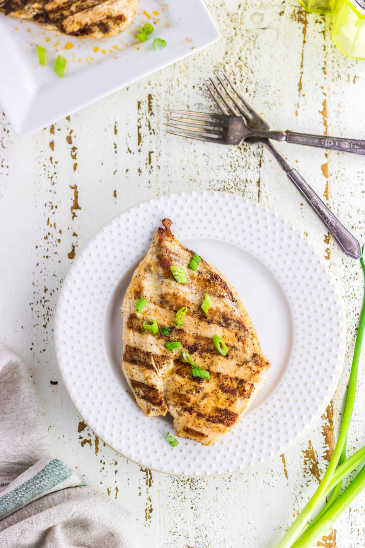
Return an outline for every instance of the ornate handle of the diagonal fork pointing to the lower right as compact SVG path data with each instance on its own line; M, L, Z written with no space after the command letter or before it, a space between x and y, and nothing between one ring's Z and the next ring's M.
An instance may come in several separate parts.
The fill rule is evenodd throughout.
M322 202L321 198L317 196L315 191L311 189L296 169L291 169L287 172L287 175L302 196L304 196L310 207L325 223L328 231L331 232L343 252L354 259L360 259L362 255L361 246L357 239L354 236L351 236L350 232L341 224L337 217L333 215L331 210Z

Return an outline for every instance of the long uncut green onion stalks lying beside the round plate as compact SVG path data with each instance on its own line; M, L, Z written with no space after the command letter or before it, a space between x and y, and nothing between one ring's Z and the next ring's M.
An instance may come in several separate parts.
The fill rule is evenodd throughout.
M365 263L362 257L360 259L360 263L361 263L363 276L365 280ZM352 502L352 500L354 500L357 494L360 493L361 489L365 487L365 467L363 467L363 469L358 473L356 478L351 482L349 487L347 487L344 490L344 492L339 496L339 498L337 498L337 496L341 489L340 482L342 480L342 477L350 473L351 470L349 469L349 466L347 465L347 469L349 469L349 471L347 471L347 473L345 473L344 476L338 479L337 483L334 484L334 482L332 481L333 477L336 477L336 475L337 477L340 477L338 475L339 470L341 469L341 467L344 467L344 466L345 468L343 468L343 471L346 470L346 463L348 463L350 460L349 459L348 461L345 461L345 453L346 453L345 444L346 444L346 438L347 438L347 431L349 430L349 426L350 426L352 410L354 409L356 383L357 383L357 370L358 370L358 362L360 359L364 328L365 328L365 287L364 287L364 296L363 296L362 307L361 307L360 321L358 324L358 330L357 330L356 341L355 341L354 356L352 358L352 364L351 364L349 387L347 389L343 419L342 419L337 443L335 445L331 460L328 463L328 467L325 472L325 475L323 476L323 479L321 483L319 484L315 494L304 506L302 512L299 513L299 516L292 523L292 525L289 527L289 529L287 530L283 538L276 545L276 548L306 548L306 547L312 546L315 540L320 539L323 536L323 534L325 534L328 531L328 529L331 528L332 523L336 520L336 518L340 515L340 513L346 509L346 507ZM362 449L360 451L362 451ZM358 455L358 453L359 452L353 455L353 457ZM365 456L363 453L361 453L361 455ZM337 465L341 463L342 460L344 461L344 463L339 466L338 470L336 470ZM355 462L355 460L353 462ZM359 464L359 462L357 464ZM340 472L340 475L341 475L341 472ZM331 494L330 499L328 501L331 504L327 503L324 509L321 511L320 515L318 515L315 521L312 522L310 526L308 526L307 523L312 513L316 510L318 504L320 504L321 501L327 495L329 495L329 493L331 493L332 489L335 489L335 490Z

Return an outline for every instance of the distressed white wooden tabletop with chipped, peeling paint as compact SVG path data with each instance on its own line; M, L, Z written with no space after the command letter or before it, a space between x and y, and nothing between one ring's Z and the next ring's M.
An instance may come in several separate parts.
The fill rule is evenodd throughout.
M267 151L164 134L163 111L210 109L204 79L228 65L273 128L363 138L365 65L334 47L328 19L305 14L294 0L207 5L222 33L211 48L22 140L1 117L0 338L32 370L56 456L129 507L143 545L270 548L314 492L331 455L360 310L360 264L341 254ZM364 158L278 148L365 241ZM53 344L62 280L94 233L138 201L198 189L259 201L306 233L337 279L347 319L341 382L315 429L260 469L212 479L150 472L105 447L74 409ZM363 369L362 359L349 454L365 443ZM364 504L365 493L320 545L363 548Z

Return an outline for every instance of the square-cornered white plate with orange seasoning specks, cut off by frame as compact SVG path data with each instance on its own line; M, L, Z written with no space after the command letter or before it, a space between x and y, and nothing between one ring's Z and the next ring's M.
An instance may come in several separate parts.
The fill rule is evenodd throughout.
M135 35L146 22L154 32L141 43ZM155 52L154 38L164 39L166 48ZM99 40L61 35L0 13L0 104L22 137L218 39L202 0L139 0L131 26ZM36 44L47 49L47 66L39 64ZM64 78L54 72L59 54L67 59Z

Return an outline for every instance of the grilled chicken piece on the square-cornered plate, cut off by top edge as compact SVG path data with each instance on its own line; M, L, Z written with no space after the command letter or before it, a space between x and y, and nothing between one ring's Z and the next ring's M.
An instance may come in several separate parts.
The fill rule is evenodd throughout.
M106 38L131 24L137 3L138 0L0 0L0 10L69 36Z

